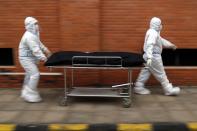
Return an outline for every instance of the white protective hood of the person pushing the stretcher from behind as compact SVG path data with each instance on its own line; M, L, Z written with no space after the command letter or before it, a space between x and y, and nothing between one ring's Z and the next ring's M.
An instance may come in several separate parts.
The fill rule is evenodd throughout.
M39 37L39 27L35 23L38 23L38 20L33 17L26 17L24 21L25 29Z

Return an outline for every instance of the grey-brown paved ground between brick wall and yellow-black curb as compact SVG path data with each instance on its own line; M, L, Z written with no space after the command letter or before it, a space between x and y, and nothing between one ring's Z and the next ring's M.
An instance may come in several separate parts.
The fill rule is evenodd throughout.
M150 123L197 121L197 87L182 87L178 97L164 96L161 88L151 95L135 95L132 107L120 99L73 98L59 106L63 89L40 89L42 103L30 104L20 89L0 89L0 123Z

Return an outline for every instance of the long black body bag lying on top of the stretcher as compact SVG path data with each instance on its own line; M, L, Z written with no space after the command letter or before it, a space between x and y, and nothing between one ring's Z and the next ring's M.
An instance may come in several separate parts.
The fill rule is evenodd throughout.
M117 66L121 64L122 67L134 67L142 66L143 63L142 54L132 52L59 51L54 53L44 65L73 66L73 64L77 64L79 66L80 64L81 66Z

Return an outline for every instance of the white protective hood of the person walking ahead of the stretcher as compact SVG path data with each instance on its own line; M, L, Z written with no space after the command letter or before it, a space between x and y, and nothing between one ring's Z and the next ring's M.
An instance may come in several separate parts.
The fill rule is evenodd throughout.
M162 28L161 19L157 17L153 17L150 21L150 28L158 32L161 31L161 28Z

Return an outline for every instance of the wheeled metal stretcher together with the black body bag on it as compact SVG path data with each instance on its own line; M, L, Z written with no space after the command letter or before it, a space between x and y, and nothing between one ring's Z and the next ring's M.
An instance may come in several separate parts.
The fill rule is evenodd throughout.
M69 97L113 97L121 98L123 107L130 107L133 100L132 70L141 68L141 54L128 52L58 52L45 63L50 68L64 70L64 98L60 105L68 105ZM76 87L73 84L75 69L88 70L127 70L128 81L111 87ZM71 70L71 87L67 87L66 74Z

